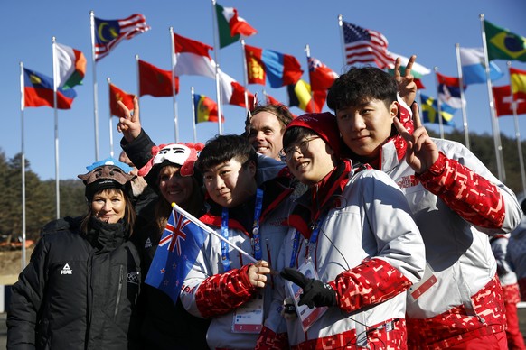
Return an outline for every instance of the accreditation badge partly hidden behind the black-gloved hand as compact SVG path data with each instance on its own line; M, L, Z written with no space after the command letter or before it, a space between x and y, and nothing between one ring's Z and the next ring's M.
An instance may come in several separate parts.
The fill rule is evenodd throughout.
M307 278L319 280L318 272L316 272L315 269L315 264L311 259L305 260L305 262L299 266L298 271L302 272ZM286 281L286 287L288 288L291 298L294 300L297 316L301 320L301 327L303 328L303 331L306 332L318 318L321 318L324 315L328 308L320 307L310 309L306 305L298 306L299 298L301 293L303 293L303 289L291 281Z

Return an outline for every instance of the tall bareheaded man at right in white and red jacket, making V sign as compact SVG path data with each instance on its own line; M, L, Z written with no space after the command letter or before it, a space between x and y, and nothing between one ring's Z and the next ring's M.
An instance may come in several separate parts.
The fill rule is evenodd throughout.
M396 80L412 103L415 58L405 80L371 67L350 69L330 88L327 105L348 156L399 184L424 239L426 273L408 292L409 348L504 349L503 292L489 235L511 232L521 207L462 144L430 138L416 105L413 124L397 101Z

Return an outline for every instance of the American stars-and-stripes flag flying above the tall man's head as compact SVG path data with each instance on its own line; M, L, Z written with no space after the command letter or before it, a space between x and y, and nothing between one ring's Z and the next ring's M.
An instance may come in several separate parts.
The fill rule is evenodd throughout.
M370 31L343 21L345 64L377 64L380 69L394 68L394 58L387 51L387 39L380 32Z

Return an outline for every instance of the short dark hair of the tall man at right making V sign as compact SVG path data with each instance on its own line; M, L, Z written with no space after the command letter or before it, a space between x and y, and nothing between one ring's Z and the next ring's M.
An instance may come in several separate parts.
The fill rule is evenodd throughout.
M386 71L374 67L352 67L329 88L327 106L334 112L379 99L389 108L397 100L397 82Z

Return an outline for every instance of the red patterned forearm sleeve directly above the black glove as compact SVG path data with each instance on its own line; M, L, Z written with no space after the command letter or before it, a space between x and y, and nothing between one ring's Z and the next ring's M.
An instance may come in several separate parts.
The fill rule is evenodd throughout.
M340 273L329 284L336 290L340 309L352 312L391 299L412 283L390 263L369 259Z

